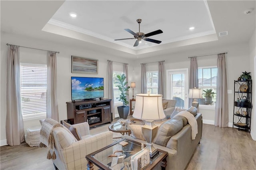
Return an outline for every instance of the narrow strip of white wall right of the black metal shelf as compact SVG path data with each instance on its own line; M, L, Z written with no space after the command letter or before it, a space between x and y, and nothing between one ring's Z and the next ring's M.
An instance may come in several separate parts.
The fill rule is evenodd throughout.
M254 30L254 34L252 34L252 38L250 38L249 42L249 51L250 51L250 68L252 72L252 122L251 122L251 136L253 140L256 140L256 30Z

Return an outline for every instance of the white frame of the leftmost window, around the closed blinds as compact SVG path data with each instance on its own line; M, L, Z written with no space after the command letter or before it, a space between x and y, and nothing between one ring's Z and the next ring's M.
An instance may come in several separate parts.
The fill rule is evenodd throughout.
M20 70L21 70L21 67L22 66L38 66L38 67L46 67L47 69L47 64L34 64L34 63L20 63ZM47 76L47 75L46 75ZM20 71L20 104L21 104L21 107L22 107L22 98L21 98L21 71ZM47 85L46 85L46 90L47 90ZM22 108L21 108L21 112L22 112ZM24 121L26 120L34 120L34 119L40 119L40 118L46 118L46 115L47 115L47 94L46 94L46 113L33 113L33 114L23 114L22 113L22 119Z

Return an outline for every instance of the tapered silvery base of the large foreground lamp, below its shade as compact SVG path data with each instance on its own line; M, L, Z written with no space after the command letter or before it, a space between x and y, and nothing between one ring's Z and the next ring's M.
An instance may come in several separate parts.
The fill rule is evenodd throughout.
M146 124L141 127L142 134L146 140L146 148L149 150L150 158L152 158L156 153L157 150L152 145L154 138L156 137L158 126L154 124L153 120L146 120Z

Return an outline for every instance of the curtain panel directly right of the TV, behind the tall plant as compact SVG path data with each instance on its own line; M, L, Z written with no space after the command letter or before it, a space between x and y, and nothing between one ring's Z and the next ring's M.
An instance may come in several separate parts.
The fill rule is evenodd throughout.
M111 99L112 120L115 118L114 89L113 89L113 62L108 60L108 98Z

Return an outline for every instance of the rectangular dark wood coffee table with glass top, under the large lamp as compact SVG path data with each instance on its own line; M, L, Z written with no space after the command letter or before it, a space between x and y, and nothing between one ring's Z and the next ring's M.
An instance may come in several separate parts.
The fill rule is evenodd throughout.
M119 144L121 141L128 142L127 145ZM146 145L144 145L146 146ZM96 152L86 155L88 160L87 169L93 170L97 166L102 170L132 170L131 156L141 150L141 144L133 140L122 139ZM156 155L150 158L150 163L143 170L165 170L168 152L157 149Z

